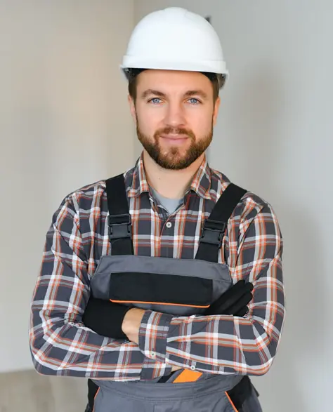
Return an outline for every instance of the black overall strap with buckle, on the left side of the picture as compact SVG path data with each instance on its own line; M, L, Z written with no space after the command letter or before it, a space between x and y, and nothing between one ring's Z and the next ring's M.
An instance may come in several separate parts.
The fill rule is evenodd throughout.
M124 175L105 180L107 207L107 225L112 255L133 255L132 225L129 204L126 195Z

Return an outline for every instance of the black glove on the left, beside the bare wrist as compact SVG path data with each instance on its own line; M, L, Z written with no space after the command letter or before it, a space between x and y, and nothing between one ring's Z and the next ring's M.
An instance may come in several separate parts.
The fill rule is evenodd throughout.
M85 326L107 338L127 339L122 321L131 307L110 300L90 298L82 317Z

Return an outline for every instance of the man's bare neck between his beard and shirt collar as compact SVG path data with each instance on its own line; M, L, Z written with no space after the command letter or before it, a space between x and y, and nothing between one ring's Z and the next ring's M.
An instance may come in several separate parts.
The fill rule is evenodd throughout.
M145 150L143 151L143 164L148 184L163 197L169 199L181 199L184 196L203 160L204 154L188 168L174 171L162 168Z

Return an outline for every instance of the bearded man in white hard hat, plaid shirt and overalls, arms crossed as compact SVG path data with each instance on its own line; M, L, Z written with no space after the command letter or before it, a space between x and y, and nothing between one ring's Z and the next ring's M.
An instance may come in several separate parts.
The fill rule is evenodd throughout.
M261 411L248 376L280 342L282 237L266 201L207 164L228 75L218 36L182 8L151 13L122 69L143 153L53 215L34 367L91 378L96 412Z

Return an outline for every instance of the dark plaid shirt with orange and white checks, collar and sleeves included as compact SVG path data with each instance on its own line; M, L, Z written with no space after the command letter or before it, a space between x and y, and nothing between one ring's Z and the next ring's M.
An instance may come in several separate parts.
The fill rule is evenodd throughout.
M135 254L194 258L204 220L228 178L204 160L183 204L169 216L152 198L142 156L124 176ZM147 310L139 345L100 336L81 321L91 277L100 257L110 253L107 214L105 180L100 180L69 194L53 215L30 313L30 347L39 373L149 381L169 374L173 365L207 373L268 371L285 300L282 237L266 201L245 194L228 222L219 255L234 283L254 283L247 317L172 317Z

